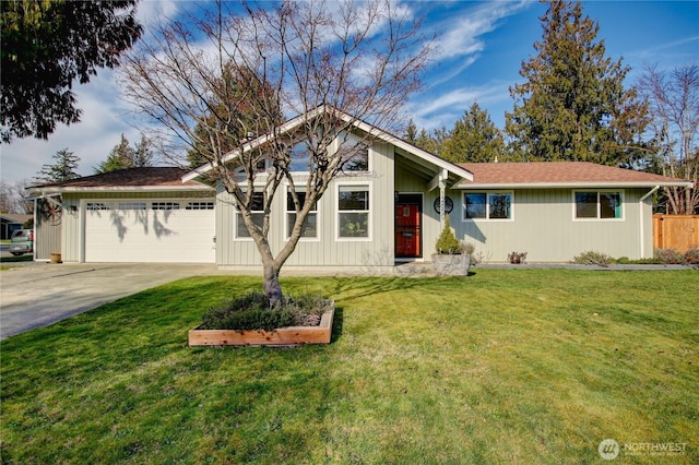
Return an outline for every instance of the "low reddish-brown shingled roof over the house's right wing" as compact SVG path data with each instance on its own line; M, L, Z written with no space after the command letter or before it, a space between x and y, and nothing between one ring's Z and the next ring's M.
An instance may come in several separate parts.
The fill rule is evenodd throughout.
M460 166L473 172L473 181L461 182L460 189L691 186L684 179L589 162L464 163Z

